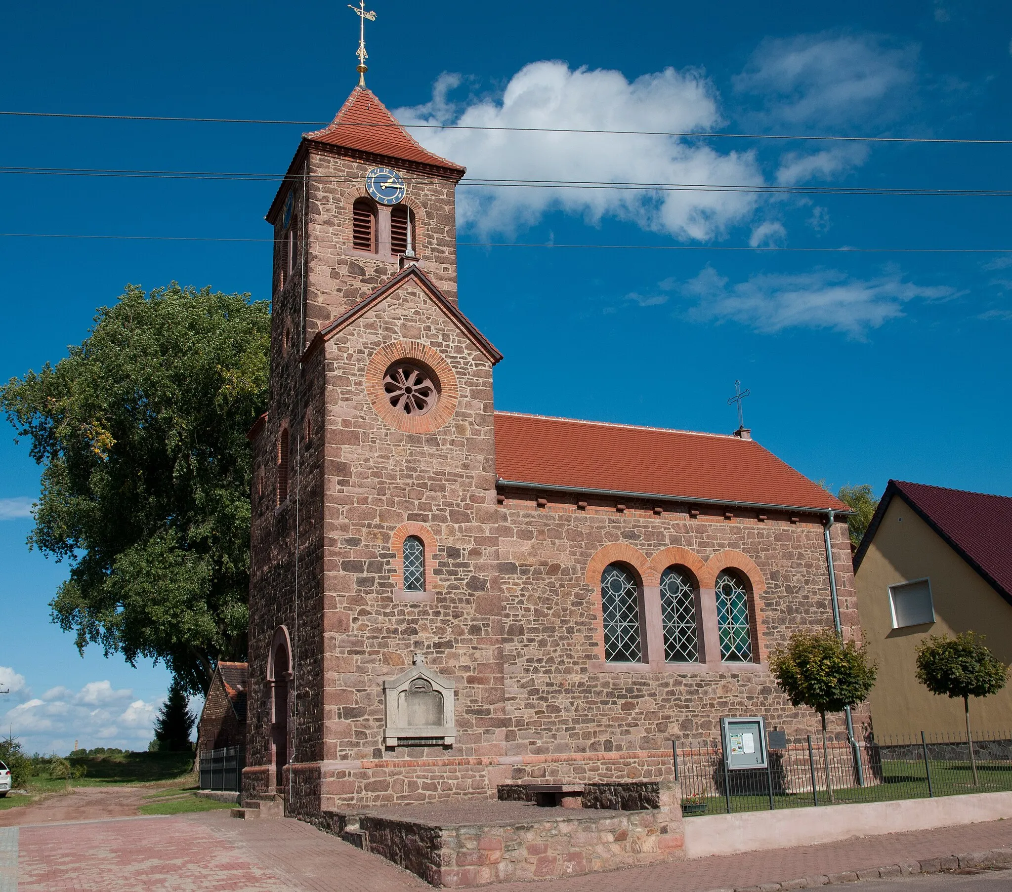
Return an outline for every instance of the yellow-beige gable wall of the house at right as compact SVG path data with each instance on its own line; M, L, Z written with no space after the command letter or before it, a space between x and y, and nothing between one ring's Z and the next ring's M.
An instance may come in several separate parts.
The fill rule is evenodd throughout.
M931 581L935 622L893 628L889 587ZM1012 606L938 536L899 496L894 496L860 568L854 574L857 611L868 651L878 664L871 692L876 735L964 731L962 700L936 697L914 676L918 644L928 635L973 630L1012 662ZM1012 732L1012 686L986 699L971 698L969 718L981 731Z

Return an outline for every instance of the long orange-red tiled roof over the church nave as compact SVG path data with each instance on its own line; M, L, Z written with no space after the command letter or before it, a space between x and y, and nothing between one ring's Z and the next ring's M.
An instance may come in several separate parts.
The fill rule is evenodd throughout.
M847 512L754 440L497 412L503 481L687 502Z

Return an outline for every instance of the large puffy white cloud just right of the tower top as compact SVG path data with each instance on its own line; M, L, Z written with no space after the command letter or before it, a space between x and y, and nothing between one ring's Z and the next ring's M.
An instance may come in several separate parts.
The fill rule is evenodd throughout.
M631 83L617 71L571 70L535 62L517 72L501 96L450 101L457 75L443 75L431 102L395 111L405 124L608 130L706 130L722 124L718 96L695 69L665 69ZM419 130L428 149L463 164L470 178L576 182L759 184L751 152L721 153L698 142L613 133ZM681 240L722 238L748 221L755 195L729 192L589 188L461 188L457 222L481 233L512 233L553 210L605 217Z

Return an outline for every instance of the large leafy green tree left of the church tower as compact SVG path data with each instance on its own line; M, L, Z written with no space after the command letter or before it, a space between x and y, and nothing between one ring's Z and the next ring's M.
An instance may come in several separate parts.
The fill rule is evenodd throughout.
M269 337L248 295L128 285L65 359L0 387L43 465L28 545L71 565L51 607L79 650L164 660L193 693L245 659Z

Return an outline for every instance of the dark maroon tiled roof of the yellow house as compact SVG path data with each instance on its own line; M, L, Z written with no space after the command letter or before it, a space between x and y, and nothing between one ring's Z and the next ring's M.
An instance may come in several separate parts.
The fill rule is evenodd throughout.
M1012 498L890 480L854 558L860 566L893 496L899 494L1006 601L1012 604Z

